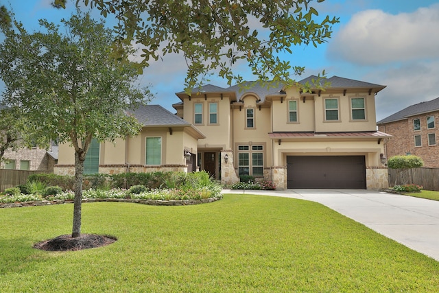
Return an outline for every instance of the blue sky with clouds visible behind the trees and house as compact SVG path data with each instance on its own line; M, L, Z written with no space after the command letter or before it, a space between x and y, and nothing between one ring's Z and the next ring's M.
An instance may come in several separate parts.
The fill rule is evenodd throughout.
M55 10L50 0L0 0L12 7L16 19L28 31L38 30L38 19L58 22L68 18L67 10ZM297 80L323 69L327 76L341 76L387 86L376 96L377 120L412 104L439 97L439 1L433 0L326 0L313 3L320 15L340 17L329 42L314 48L293 47L285 56L293 65L306 67ZM94 12L99 17L98 12ZM241 75L254 80L245 65ZM166 55L145 69L142 84L152 84L155 99L175 112L175 95L184 88L185 60ZM227 87L225 80L211 77L211 84Z

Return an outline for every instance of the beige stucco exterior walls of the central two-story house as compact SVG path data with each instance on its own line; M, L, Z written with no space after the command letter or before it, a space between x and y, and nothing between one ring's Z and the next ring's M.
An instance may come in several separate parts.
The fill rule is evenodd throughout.
M335 78L336 82L342 79ZM342 86L305 93L294 86L238 91L211 85L191 95L177 93L181 102L174 105L176 115L187 125L145 126L137 137L101 143L99 172L148 172L170 166L184 170L189 166L205 169L224 184L237 182L242 172L286 189L289 156L364 156L366 188L385 188L382 141L389 135L377 132L375 117L375 95L385 86L342 81ZM326 99L336 100L337 119L328 118L327 110L334 109L325 108ZM352 99L364 101L359 109L355 106L364 119L353 117ZM295 110L289 108L290 101ZM147 137L161 137L161 165L145 165ZM186 152L191 154L190 161L185 159ZM60 145L58 164L73 164L68 145Z

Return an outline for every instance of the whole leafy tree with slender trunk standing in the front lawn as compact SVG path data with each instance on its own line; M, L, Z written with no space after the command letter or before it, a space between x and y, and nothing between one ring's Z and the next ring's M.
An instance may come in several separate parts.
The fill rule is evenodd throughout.
M72 237L81 235L82 174L91 140L135 135L139 122L125 109L149 97L139 89L132 53L112 57L115 35L88 13L62 20L62 27L40 21L29 34L21 23L3 26L0 76L4 102L25 117L27 134L39 144L70 143L75 150Z

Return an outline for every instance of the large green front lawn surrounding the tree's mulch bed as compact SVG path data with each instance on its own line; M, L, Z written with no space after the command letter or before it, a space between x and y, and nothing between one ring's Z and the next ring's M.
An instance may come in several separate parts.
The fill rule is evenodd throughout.
M49 253L73 204L0 209L1 292L434 292L439 262L315 202L225 195L210 204L82 205L109 246Z

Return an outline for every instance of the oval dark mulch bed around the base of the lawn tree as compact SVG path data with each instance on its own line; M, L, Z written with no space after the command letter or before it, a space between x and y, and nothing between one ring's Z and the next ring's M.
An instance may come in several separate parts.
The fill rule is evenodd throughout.
M116 237L109 235L82 234L75 238L71 235L60 235L54 239L38 242L34 248L46 251L74 251L106 246L116 241Z

